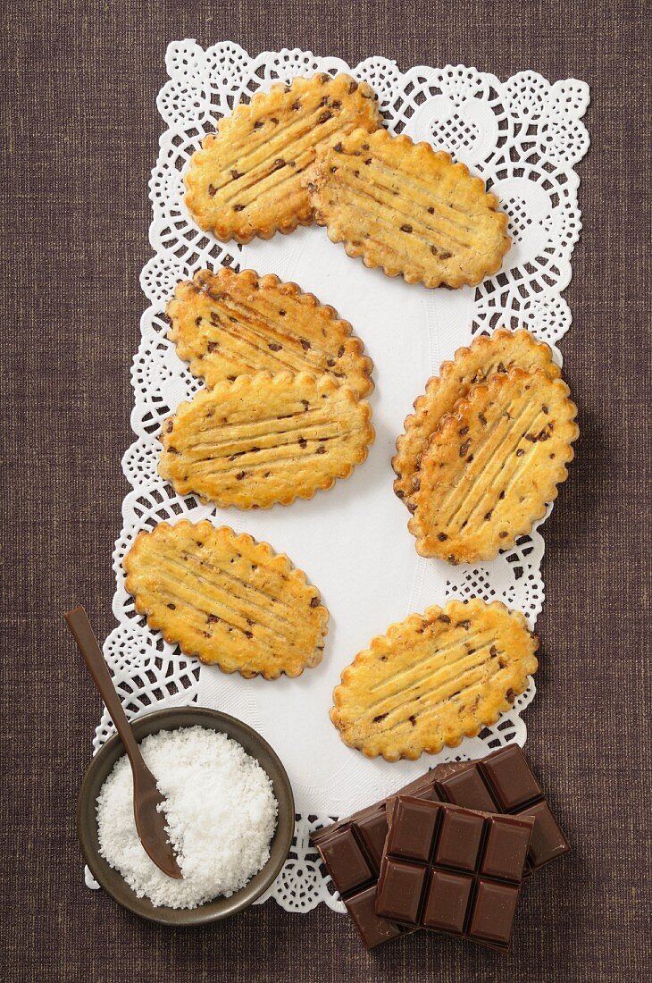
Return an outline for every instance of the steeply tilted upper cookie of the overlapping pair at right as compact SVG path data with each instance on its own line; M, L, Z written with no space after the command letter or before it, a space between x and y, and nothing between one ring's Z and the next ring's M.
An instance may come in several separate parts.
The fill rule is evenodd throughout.
M566 481L576 412L566 382L542 369L472 386L421 457L409 498L416 551L474 563L514 546Z

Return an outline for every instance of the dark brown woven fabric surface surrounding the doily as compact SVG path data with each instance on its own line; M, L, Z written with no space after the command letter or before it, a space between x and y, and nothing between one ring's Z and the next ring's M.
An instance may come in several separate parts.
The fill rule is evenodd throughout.
M647 8L647 12L646 12ZM528 752L574 852L524 891L508 958L274 903L205 930L136 920L82 884L76 794L100 713L61 612L113 626L110 554L132 441L129 369L150 255L154 98L173 38L350 62L531 68L591 85L584 229L563 340L582 436L545 528L548 601ZM5 8L0 831L7 983L649 978L650 20L644 2L43 3ZM647 607L647 609L646 609ZM645 693L648 694L647 701Z

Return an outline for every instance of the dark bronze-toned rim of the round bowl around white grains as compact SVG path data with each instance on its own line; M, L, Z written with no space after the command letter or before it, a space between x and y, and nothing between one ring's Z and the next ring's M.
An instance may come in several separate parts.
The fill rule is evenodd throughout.
M215 897L196 908L155 907L148 897L138 897L99 852L95 805L100 788L109 777L113 766L125 753L123 743L114 735L92 759L81 782L77 809L77 833L81 852L91 874L108 895L134 911L141 918L162 925L207 925L229 915L243 911L261 896L273 883L290 852L295 833L295 799L285 768L274 750L260 734L246 723L221 714L217 710L201 707L180 707L173 710L157 710L132 721L137 741L159 730L176 730L178 727L201 726L217 730L238 741L247 754L260 764L272 781L274 795L279 804L278 820L270 843L269 860L248 884L230 897ZM215 831L219 836L219 830Z

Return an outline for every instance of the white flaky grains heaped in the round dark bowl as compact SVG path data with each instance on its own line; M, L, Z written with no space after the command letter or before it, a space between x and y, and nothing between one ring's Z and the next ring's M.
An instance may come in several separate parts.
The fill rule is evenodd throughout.
M140 844L127 755L97 797L101 855L156 907L195 908L240 891L267 863L276 829L278 803L267 774L236 741L200 726L151 734L140 751L167 800L167 830L184 880L160 871Z

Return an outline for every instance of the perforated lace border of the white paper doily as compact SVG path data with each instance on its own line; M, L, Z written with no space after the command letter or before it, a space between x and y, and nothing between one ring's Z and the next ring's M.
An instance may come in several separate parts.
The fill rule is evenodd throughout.
M581 122L588 87L572 79L551 84L536 73L521 72L501 83L493 75L462 65L419 66L404 74L384 58L368 58L351 68L339 59L318 58L298 49L250 57L231 41L207 50L193 40L173 42L166 65L170 80L161 88L157 106L167 130L160 138L149 183L153 210L149 241L154 256L140 277L150 306L141 318L141 341L132 369L136 441L122 462L132 491L123 503L123 530L113 554L117 579L113 611L118 627L104 644L129 716L190 703L198 686L196 662L148 631L136 614L124 589L121 560L139 530L180 516L196 521L212 512L190 495L176 495L156 473L156 435L162 420L200 386L180 368L174 346L166 339L165 304L179 280L202 266L238 265L241 252L240 247L220 244L198 229L183 203L182 175L204 134L237 103L275 82L290 83L297 75L316 71L346 71L366 80L379 94L390 131L450 150L483 177L509 213L513 240L506 260L509 266L475 289L472 332L498 324L526 326L552 345L570 326L570 311L561 294L570 281L570 256L580 228L573 166L588 147ZM242 516L233 525L242 531ZM533 625L544 599L543 550L543 539L534 529L490 564L452 568L447 594L479 595L487 601L498 598L523 610ZM532 683L496 727L485 728L464 745L464 756L480 756L512 740L522 744L526 732L519 715L533 695ZM105 712L94 750L112 732ZM460 755L453 749L438 760L456 757ZM274 897L293 911L306 911L323 901L344 910L309 844L310 832L331 818L298 817L291 855L261 901ZM88 876L86 883L96 886Z

